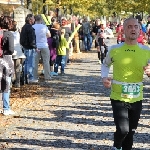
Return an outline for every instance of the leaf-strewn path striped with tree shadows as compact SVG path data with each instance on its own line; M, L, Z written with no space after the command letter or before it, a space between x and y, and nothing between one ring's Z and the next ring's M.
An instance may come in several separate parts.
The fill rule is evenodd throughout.
M115 131L109 90L102 86L97 53L74 54L65 76L12 90L16 115L0 116L5 150L109 150ZM136 150L150 150L149 83L135 135Z

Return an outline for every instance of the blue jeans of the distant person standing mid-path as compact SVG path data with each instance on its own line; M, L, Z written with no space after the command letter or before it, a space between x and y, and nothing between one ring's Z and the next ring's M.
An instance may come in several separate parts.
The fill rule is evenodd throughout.
M84 46L85 46L85 50L90 50L92 47L92 36L90 33L88 34L84 34L83 36L84 38Z

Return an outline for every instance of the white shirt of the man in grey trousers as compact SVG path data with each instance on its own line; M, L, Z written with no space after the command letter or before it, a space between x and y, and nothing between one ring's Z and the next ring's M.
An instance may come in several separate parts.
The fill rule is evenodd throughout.
M37 48L48 48L46 34L49 33L49 30L47 26L43 24L34 24L32 27L35 29Z

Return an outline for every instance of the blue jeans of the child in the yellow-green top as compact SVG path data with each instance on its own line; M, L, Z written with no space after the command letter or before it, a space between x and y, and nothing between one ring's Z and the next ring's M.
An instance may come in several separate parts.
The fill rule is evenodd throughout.
M64 73L64 68L65 68L65 63L66 63L66 55L57 55L56 57L56 62L54 64L54 72L58 72L58 67L61 65L61 73Z

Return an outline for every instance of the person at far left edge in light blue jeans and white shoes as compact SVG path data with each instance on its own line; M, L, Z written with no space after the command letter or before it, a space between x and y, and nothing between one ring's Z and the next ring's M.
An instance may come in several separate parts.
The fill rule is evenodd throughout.
M14 115L15 112L10 108L11 78L14 75L14 64L12 60L12 54L14 53L14 36L8 29L9 23L2 19L0 22L0 78L2 79L0 86L3 101L3 114Z

